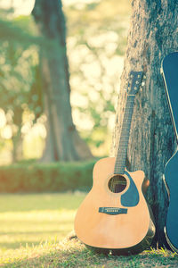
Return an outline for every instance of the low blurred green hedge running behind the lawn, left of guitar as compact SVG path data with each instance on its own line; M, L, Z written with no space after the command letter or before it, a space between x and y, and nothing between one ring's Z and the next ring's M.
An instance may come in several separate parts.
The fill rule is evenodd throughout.
M81 163L16 163L0 167L0 192L88 190L95 161Z

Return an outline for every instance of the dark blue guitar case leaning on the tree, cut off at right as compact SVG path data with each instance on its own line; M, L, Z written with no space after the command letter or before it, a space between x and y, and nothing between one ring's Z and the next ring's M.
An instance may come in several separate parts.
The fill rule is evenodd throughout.
M178 52L166 55L162 62L161 72L165 81L166 98L169 107L174 137L178 144ZM166 240L175 252L178 252L178 153L166 163L164 182L169 196L169 206L166 214Z

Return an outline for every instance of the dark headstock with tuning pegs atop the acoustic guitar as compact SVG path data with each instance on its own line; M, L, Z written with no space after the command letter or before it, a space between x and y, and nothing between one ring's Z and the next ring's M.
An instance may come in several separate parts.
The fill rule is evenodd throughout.
M142 86L143 71L131 71L128 80L128 95L135 95Z

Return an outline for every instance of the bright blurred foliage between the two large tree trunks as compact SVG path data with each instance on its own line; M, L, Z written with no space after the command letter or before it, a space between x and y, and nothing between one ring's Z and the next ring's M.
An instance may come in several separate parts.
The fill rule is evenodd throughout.
M64 11L69 29L71 101L77 129L94 155L100 147L108 155L109 145L106 150L105 141L114 128L122 71L120 59L125 54L131 3L103 0L64 6ZM80 102L78 96L82 96Z

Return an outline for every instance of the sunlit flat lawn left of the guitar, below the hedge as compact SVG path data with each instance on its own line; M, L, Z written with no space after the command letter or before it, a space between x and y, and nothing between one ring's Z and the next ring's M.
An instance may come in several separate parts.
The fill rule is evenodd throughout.
M0 264L24 248L57 243L73 230L84 194L0 195Z

